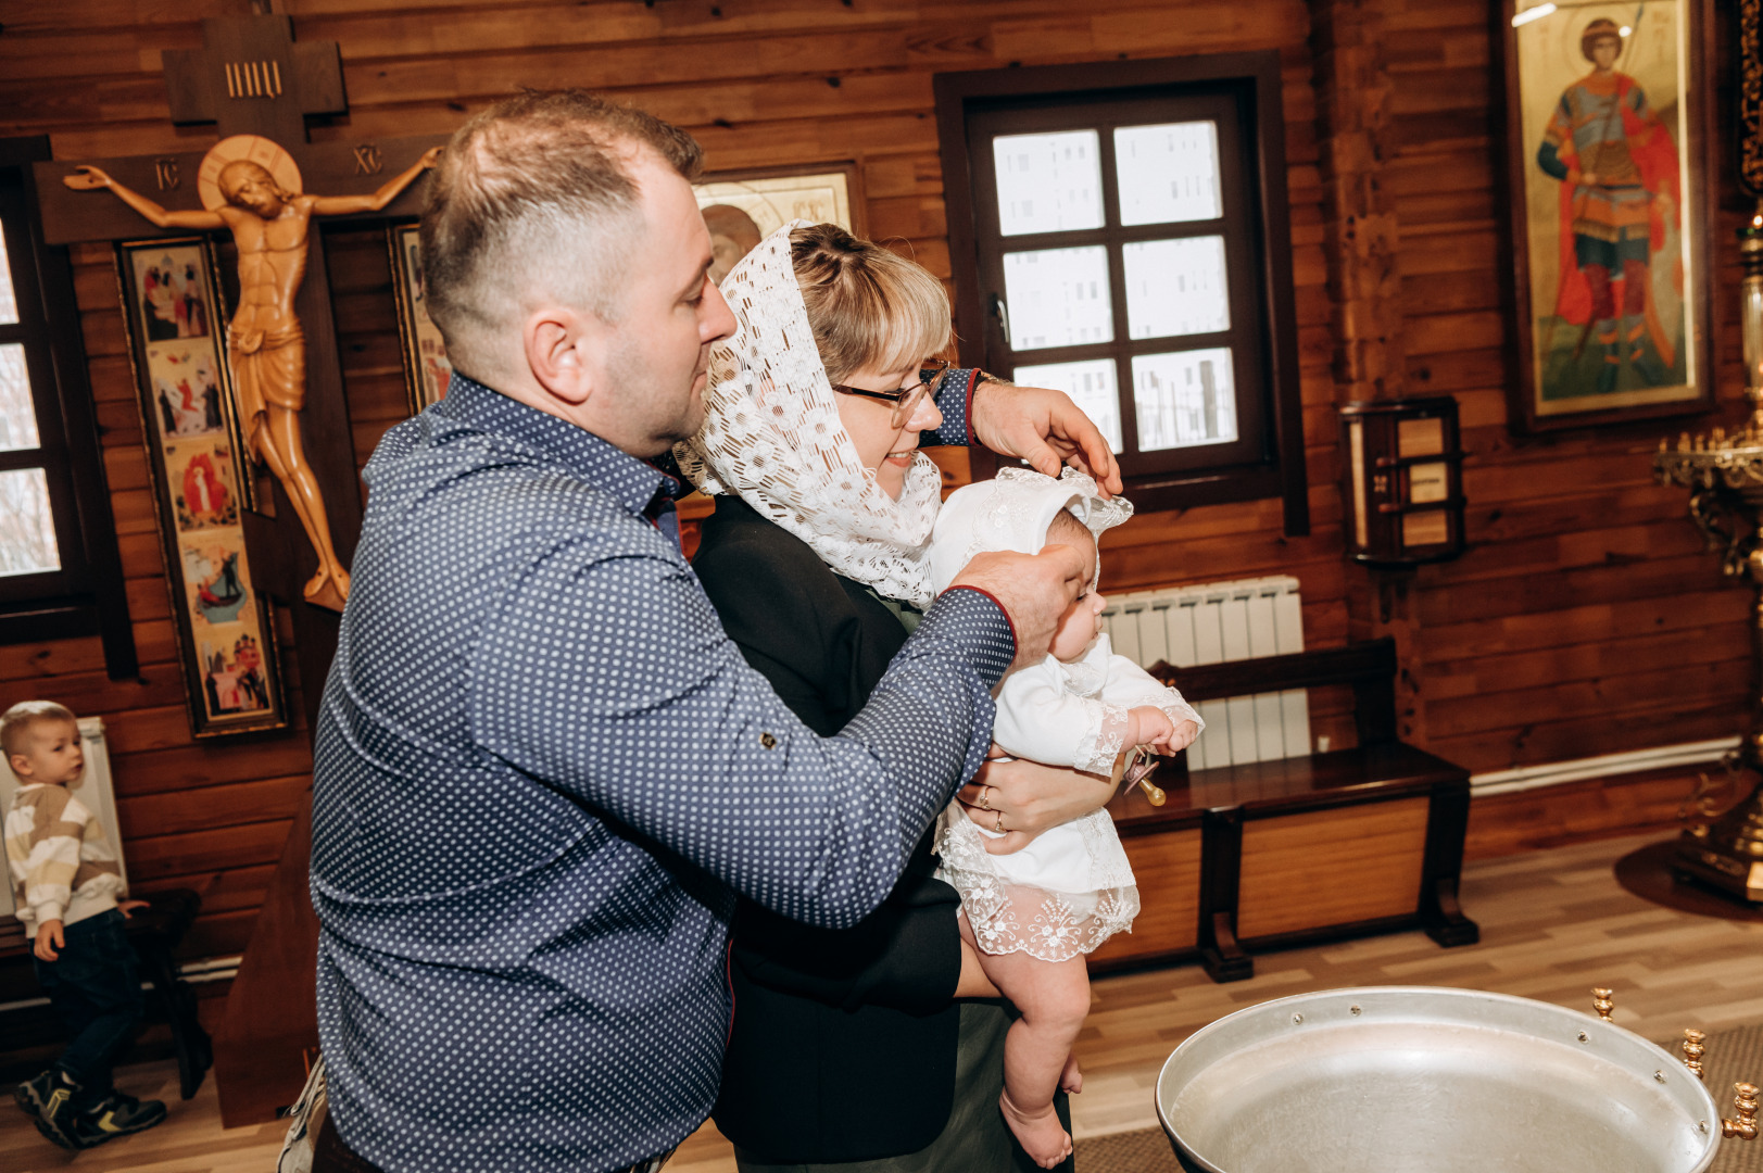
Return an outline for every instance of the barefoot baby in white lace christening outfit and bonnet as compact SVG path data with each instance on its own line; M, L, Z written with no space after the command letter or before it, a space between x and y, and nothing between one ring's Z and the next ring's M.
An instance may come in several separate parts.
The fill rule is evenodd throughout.
M1068 545L1090 566L1090 589L1061 616L1047 658L998 688L993 741L1012 757L1114 776L1123 751L1176 753L1204 727L1181 693L1116 656L1102 633L1097 542L1130 515L1130 503L1102 497L1072 469L1060 480L1003 469L943 503L931 534L938 589L984 550ZM1139 889L1105 810L1012 850L1017 836L1000 831L1001 818L986 822L984 790L980 804L971 815L961 803L943 811L936 875L961 893L961 935L1021 1012L1005 1039L1000 1108L1028 1155L1053 1168L1072 1152L1053 1094L1082 1087L1072 1042L1090 1012L1084 954L1132 928Z

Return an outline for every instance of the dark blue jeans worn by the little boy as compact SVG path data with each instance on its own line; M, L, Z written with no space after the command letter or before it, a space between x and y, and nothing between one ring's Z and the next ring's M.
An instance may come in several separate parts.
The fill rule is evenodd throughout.
M72 1101L78 1111L115 1090L111 1064L146 1011L134 945L123 924L122 912L115 908L69 924L60 956L55 961L37 960L37 984L72 1035L55 1065L79 1085Z

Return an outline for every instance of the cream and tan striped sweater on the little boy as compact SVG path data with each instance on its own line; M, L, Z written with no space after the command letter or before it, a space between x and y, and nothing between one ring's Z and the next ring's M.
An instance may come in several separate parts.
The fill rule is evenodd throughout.
M122 866L104 826L67 787L19 787L5 813L5 859L25 935L116 907Z

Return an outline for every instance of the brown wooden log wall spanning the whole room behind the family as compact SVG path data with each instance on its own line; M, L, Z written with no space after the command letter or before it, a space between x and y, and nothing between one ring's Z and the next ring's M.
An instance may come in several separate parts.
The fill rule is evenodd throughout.
M1490 0L1312 2L275 7L300 39L342 48L351 115L316 125L314 139L446 132L517 86L612 90L689 127L710 169L857 162L871 235L945 280L934 72L1276 49L1312 534L1282 536L1278 501L1149 513L1105 543L1105 586L1292 573L1310 646L1396 624L1410 736L1477 771L1733 732L1751 672L1745 601L1701 552L1682 494L1650 483L1648 452L1675 425L1548 441L1506 430ZM0 134L48 132L60 159L201 148L212 131L167 120L160 55L197 48L199 18L247 11L245 0L0 0ZM1354 102L1343 85L1379 92ZM1354 155L1349 136L1379 150ZM1349 273L1345 217L1373 213L1395 273ZM1715 305L1719 376L1737 388L1737 279L1721 249L1731 228L1715 235ZM344 226L326 247L365 462L405 413L384 236ZM108 681L95 639L14 646L0 649L0 700L46 695L106 718L130 871L143 889L201 891L187 953L231 953L249 937L309 781L305 730L190 739L111 254L81 247L74 259L141 679ZM1377 353L1350 325L1359 293L1379 307ZM1470 452L1463 559L1391 579L1343 561L1335 409L1370 383L1458 397ZM1317 732L1350 743L1345 699L1319 697L1315 713Z

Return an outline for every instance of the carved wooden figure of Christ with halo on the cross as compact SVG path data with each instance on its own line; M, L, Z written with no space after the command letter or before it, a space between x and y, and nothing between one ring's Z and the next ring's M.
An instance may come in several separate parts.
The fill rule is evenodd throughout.
M307 356L305 335L294 316L294 295L307 272L312 217L379 212L432 168L439 153L439 146L430 148L368 196L289 192L261 164L234 159L219 175L224 203L203 212L167 212L92 166L81 166L63 180L76 191L109 189L159 228L233 233L238 247L238 309L227 323L226 344L233 362L240 427L250 452L270 466L287 490L319 556L317 573L303 591L316 607L342 610L349 598L349 572L342 568L331 545L324 497L300 439Z

